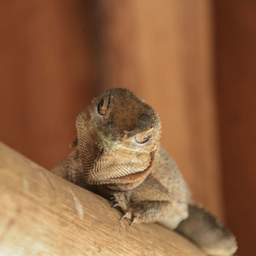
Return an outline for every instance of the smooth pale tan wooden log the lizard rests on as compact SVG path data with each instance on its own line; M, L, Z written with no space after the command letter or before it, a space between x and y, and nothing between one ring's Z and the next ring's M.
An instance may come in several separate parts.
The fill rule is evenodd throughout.
M0 143L1 255L204 253L159 224L119 222L108 201Z

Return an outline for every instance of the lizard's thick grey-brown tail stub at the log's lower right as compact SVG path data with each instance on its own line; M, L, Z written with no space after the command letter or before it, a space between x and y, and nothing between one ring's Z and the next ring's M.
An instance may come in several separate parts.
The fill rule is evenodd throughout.
M178 224L176 231L195 242L207 255L236 253L235 236L202 207L189 205L189 218Z

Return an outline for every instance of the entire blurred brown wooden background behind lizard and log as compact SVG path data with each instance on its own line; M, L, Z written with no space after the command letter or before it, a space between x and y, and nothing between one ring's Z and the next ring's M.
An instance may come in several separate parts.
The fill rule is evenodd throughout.
M126 87L154 106L195 199L253 255L256 1L0 3L0 139L50 168L92 97Z

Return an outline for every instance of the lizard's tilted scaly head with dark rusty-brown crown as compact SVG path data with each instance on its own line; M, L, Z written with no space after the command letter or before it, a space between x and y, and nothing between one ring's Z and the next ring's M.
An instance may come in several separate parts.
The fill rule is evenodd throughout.
M130 90L112 89L79 113L76 126L87 183L143 182L159 147L154 108Z

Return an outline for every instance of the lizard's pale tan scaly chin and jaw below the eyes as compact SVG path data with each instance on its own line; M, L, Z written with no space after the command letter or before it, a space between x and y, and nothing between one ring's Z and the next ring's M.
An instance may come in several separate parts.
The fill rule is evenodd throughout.
M84 152L84 151L83 151ZM155 152L147 155L124 154L118 150L98 148L94 155L79 154L86 183L129 184L129 188L142 183L154 166Z

